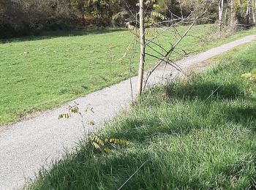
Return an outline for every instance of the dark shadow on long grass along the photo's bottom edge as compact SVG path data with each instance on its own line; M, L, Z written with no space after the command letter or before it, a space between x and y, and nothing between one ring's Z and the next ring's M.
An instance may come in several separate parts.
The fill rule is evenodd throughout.
M53 168L45 181L37 183L37 189L118 189L130 176L132 178L122 189L184 189L185 186L206 189L198 178L189 180L188 176L171 172L172 168L164 166L158 157L164 156L161 153L154 157L153 152L138 148L115 156L101 156L92 155L87 147L83 148L72 159L59 162L60 167ZM138 170L143 163L145 165ZM170 173L162 173L162 167L169 167Z

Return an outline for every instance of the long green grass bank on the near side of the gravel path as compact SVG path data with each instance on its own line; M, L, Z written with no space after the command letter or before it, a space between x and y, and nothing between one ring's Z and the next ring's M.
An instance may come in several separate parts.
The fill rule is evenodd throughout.
M99 137L128 140L113 153L81 142L30 189L254 189L256 99L240 76L256 67L256 42L189 80L147 91ZM218 88L215 94L208 96Z

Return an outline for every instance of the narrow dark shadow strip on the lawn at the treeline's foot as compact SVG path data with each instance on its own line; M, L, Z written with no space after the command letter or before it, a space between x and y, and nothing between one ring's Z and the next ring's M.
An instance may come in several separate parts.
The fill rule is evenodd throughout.
M53 39L57 37L78 37L86 36L89 34L109 34L118 31L126 31L124 28L78 28L73 30L58 30L58 31L42 31L39 34L26 36L26 37L14 37L10 39L0 39L0 44L9 42L26 42L26 41L36 41L42 39Z

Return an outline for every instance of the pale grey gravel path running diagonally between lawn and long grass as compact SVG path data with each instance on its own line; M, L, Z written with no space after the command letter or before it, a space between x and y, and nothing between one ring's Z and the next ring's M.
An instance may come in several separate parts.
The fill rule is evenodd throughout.
M187 71L197 68L202 70L207 64L202 64L208 58L251 42L256 35L244 37L226 45L213 48L197 56L185 58L177 64ZM172 74L172 75L171 75ZM170 76L171 75L171 76ZM149 80L150 85L160 83L162 77L174 78L178 72L167 66L161 66ZM113 118L123 107L131 102L130 80L125 80L114 86L96 91L85 97L80 97L64 106L42 113L36 118L15 123L10 129L0 132L0 189L18 189L25 183L25 178L33 178L41 166L52 159L58 159L64 150L71 148L83 136L84 129L80 118L74 116L67 120L58 120L60 113L66 113L68 105L77 102L81 109L91 104L94 113L87 113L85 118L94 121L95 126L86 125L86 132L94 130L105 121ZM132 77L135 88L137 77ZM135 92L134 92L135 93ZM87 121L86 121L87 123Z

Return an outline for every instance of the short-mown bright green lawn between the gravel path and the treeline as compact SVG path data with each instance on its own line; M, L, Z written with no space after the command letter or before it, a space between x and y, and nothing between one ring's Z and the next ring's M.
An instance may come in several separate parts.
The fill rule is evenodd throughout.
M178 28L185 31L187 27ZM202 41L214 26L192 28L190 36L179 45L194 54L232 41L255 29L241 31L214 42ZM150 38L150 37L149 37ZM10 39L0 43L0 125L64 104L129 77L130 54L124 52L133 38L129 31L91 29L45 33L41 37ZM170 47L173 34L160 42ZM138 44L137 44L138 47ZM197 52L195 52L197 50ZM150 50L148 50L150 52ZM182 51L181 51L182 52ZM173 60L181 58L173 55ZM146 68L156 62L147 58ZM132 73L138 67L138 48L132 61Z

